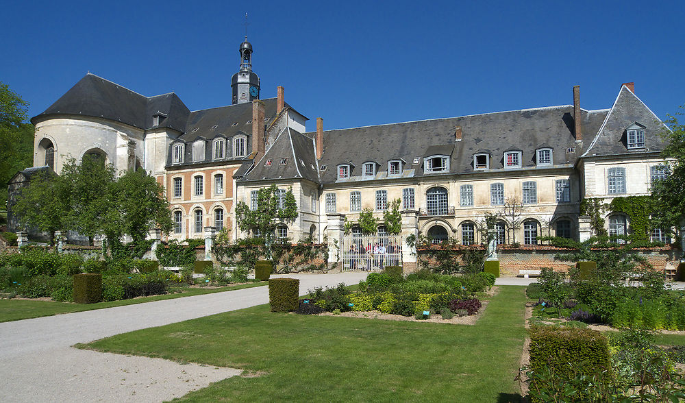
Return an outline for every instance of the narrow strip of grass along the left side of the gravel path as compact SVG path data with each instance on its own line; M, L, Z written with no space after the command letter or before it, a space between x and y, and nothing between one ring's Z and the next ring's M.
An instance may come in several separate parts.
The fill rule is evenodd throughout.
M141 304L142 302L171 300L173 298L190 297L192 295L220 293L222 291L247 289L249 287L264 286L266 284L266 282L256 282L251 284L240 284L235 286L219 287L216 289L182 287L180 288L180 293L153 295L151 297L140 297L134 298L132 300L98 302L97 304L73 304L71 302L3 299L0 300L0 322L58 315L60 313L81 312L83 310L112 308L112 306Z

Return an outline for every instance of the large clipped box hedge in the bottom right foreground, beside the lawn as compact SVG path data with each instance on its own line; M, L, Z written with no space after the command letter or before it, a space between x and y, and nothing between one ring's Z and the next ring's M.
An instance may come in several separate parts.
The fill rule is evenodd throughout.
M530 330L530 368L534 372L547 373L549 368L560 379L572 379L576 373L601 376L610 367L608 341L597 330L551 326Z

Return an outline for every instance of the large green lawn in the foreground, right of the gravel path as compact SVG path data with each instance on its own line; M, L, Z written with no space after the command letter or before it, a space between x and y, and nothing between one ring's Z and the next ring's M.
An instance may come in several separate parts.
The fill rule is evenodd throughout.
M270 313L266 305L119 334L96 350L246 369L183 401L518 402L524 288L475 326Z

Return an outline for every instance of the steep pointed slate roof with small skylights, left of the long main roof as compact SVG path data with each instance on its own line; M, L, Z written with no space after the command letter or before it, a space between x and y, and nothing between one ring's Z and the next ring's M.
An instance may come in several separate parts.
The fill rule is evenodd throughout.
M240 181L301 178L319 182L314 147L312 138L285 127L262 159ZM286 164L281 164L284 158Z

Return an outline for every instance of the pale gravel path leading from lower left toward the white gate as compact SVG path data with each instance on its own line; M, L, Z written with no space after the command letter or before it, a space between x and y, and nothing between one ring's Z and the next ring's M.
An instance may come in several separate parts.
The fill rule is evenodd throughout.
M366 273L289 274L300 294ZM163 402L240 370L77 350L71 345L266 304L266 286L0 323L0 402Z

